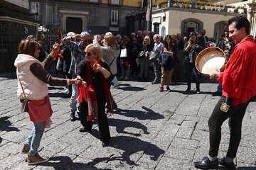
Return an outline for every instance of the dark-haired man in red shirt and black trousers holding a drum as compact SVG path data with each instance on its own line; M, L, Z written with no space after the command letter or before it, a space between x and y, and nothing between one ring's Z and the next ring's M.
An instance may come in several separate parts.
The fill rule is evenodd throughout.
M222 84L223 94L208 120L210 149L208 157L194 162L198 169L218 169L218 164L226 169L236 169L236 157L241 140L242 119L250 99L256 95L256 43L250 35L250 23L244 16L228 20L229 36L235 42L230 60L223 72L210 74ZM226 157L217 159L221 140L221 125L230 118L230 143Z

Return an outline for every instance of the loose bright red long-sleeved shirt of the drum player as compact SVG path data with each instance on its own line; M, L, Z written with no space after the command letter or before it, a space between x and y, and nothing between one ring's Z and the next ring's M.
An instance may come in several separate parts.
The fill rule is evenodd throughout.
M222 84L223 96L233 98L233 106L256 95L256 43L251 35L235 45L217 80Z

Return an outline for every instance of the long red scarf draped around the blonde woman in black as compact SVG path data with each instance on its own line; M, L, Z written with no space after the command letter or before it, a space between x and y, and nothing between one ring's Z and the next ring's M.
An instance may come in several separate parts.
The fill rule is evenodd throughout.
M79 96L78 102L82 103L83 100L87 101L88 103L88 116L87 121L92 121L92 119L97 119L97 97L95 94L95 88L93 86L92 75L90 72L90 62L86 62L87 69L85 74L85 81L87 82L87 87L83 84L79 86ZM95 62L95 64L103 65L103 62ZM100 77L102 80L102 86L105 92L105 98L107 101L107 113L113 113L114 111L114 104L113 98L110 92L110 84L108 84L107 79L103 76L102 72L100 72Z

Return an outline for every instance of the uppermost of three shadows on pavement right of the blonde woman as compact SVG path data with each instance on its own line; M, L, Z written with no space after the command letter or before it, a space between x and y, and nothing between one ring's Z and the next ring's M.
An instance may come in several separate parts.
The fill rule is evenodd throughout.
M138 110L122 110L117 108L117 112L115 114L125 115L127 117L137 118L139 120L157 120L164 118L164 115L160 115L159 113L152 111L150 108L146 108L145 106L142 106L142 108L146 112Z

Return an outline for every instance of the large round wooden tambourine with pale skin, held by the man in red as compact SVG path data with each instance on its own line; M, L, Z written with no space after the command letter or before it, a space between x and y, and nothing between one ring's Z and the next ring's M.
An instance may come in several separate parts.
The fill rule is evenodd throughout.
M210 73L220 72L225 67L225 52L219 47L208 47L196 57L196 69L205 76Z

